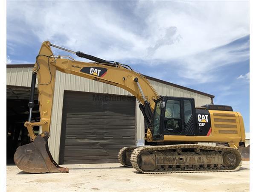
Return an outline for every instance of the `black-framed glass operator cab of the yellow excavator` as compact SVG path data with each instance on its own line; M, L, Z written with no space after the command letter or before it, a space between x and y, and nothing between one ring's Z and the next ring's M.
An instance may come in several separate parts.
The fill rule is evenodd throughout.
M196 135L195 100L169 96L157 99L152 124L154 140L163 140L164 135Z

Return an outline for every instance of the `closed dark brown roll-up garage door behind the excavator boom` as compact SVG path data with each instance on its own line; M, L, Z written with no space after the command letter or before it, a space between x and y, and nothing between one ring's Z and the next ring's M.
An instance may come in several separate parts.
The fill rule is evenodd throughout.
M136 145L135 97L64 91L60 164L117 163Z

